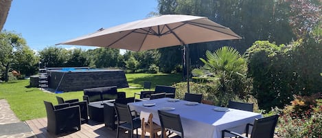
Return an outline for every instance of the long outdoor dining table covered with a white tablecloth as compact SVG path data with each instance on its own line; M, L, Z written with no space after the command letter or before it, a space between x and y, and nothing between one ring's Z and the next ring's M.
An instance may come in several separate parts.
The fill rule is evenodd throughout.
M179 114L183 133L187 138L219 138L222 130L233 130L244 133L246 124L253 123L255 118L262 118L260 113L241 111L229 108L229 111L215 111L218 106L208 104L189 104L185 100L165 97L161 99L129 103L131 110L146 111L153 114L153 122L160 125L158 110L170 107L169 113ZM155 104L155 105L154 105ZM144 106L143 106L144 105ZM147 106L148 105L148 106ZM153 105L153 106L152 106Z

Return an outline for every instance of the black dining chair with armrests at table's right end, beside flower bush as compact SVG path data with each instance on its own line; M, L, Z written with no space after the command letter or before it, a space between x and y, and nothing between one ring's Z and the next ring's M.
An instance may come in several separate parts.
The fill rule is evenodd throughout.
M230 133L231 135L235 135L237 137L247 138L249 133L249 126L253 126L251 131L251 138L273 138L274 137L274 130L277 124L279 115L273 115L270 117L264 117L260 119L255 119L254 124L247 124L246 125L246 137L235 133L229 130L222 130L221 137L225 137L225 133Z

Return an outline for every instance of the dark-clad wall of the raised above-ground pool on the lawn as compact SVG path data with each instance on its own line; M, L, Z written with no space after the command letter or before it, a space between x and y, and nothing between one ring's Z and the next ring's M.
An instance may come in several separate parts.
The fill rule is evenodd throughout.
M128 87L125 72L120 69L93 69L88 71L54 69L48 70L47 73L49 75L49 88L57 89L57 91L82 91L83 89L111 86Z

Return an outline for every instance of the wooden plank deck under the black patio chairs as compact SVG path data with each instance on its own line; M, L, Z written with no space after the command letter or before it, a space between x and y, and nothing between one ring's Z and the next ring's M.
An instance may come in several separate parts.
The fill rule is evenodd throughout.
M32 119L25 121L28 126L32 129L35 136L38 138L49 138L49 137L69 137L69 138L80 138L80 137L116 137L116 130L111 130L106 128L104 124L97 124L89 120L88 124L82 124L79 131L63 133L61 135L54 135L47 132L47 117ZM139 131L139 134L141 131ZM124 130L120 131L119 137L128 137L127 133ZM135 135L136 137L136 135Z

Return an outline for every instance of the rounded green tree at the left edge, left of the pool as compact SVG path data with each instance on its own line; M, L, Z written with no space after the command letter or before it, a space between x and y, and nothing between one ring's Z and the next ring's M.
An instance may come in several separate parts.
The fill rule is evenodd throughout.
M21 70L23 74L34 73L32 66L36 64L36 56L20 34L4 31L0 33L0 63L2 78L8 82L8 71L12 67ZM28 69L32 70L28 72Z

